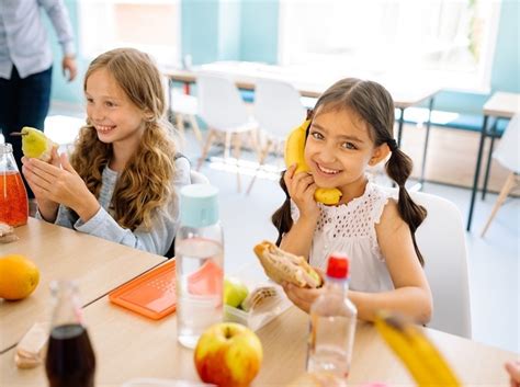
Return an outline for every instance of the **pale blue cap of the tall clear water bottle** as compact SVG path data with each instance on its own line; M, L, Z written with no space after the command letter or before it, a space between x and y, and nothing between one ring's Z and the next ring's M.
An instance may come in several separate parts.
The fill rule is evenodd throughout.
M190 184L181 189L181 225L205 227L218 221L218 189L210 184Z

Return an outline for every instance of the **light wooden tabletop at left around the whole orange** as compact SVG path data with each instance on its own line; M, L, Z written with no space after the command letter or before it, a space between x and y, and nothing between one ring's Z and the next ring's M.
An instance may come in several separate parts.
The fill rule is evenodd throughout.
M49 318L53 280L75 280L83 306L166 261L104 239L29 218L15 228L20 240L0 244L1 255L19 253L39 269L34 293L19 301L0 298L0 353L16 344L31 326ZM1 384L0 384L1 385Z

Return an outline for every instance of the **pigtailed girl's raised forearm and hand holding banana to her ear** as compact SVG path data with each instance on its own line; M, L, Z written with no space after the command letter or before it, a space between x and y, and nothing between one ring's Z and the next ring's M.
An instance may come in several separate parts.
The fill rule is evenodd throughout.
M299 217L286 232L280 248L296 255L308 258L314 230L319 217L319 207L314 200L316 184L310 174L295 174L296 164L291 166L284 175L285 185L293 202L298 207Z

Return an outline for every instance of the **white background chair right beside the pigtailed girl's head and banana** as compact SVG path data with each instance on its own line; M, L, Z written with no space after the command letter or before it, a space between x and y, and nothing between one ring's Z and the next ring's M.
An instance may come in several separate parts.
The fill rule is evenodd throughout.
M305 119L305 107L301 95L290 83L279 80L259 79L255 86L255 118L265 136L260 150L257 173L270 151L283 155L283 144L289 133ZM257 179L255 173L247 193L251 192Z

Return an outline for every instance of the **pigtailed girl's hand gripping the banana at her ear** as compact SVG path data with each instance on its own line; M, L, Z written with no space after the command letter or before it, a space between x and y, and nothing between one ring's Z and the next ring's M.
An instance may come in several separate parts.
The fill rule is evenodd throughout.
M312 174L299 172L295 174L297 164L291 166L283 177L287 186L289 195L294 201L299 210L299 216L317 219L319 207L314 200L314 193L317 189Z

